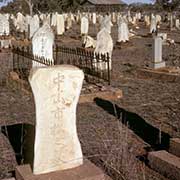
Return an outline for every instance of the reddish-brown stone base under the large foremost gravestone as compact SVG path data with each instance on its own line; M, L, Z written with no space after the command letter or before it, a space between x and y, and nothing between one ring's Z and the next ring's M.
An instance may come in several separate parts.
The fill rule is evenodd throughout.
M15 176L16 180L111 180L87 159L79 167L42 175L33 175L30 165L17 166Z

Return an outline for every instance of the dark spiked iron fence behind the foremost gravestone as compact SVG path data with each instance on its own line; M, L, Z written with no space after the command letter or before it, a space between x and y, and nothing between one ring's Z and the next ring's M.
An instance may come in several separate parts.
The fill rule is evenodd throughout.
M84 48L54 47L54 61L37 57L32 54L31 47L13 47L13 69L23 79L27 79L33 61L42 65L52 66L70 64L84 71L89 83L107 82L110 85L109 54L97 54Z

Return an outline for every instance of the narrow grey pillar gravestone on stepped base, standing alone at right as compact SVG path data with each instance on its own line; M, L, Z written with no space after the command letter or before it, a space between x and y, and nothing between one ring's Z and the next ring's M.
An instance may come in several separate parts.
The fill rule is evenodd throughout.
M162 38L157 36L154 38L153 45L153 68L158 69L165 66L165 62L162 61Z

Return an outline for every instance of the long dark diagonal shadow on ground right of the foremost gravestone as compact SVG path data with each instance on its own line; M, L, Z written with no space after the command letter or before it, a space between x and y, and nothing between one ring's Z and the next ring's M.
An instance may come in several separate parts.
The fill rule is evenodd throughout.
M110 101L100 98L94 99L95 103L109 114L116 116L123 124L128 125L137 136L151 145L153 150L167 150L170 135L147 123L138 114L126 111Z

